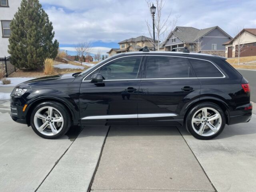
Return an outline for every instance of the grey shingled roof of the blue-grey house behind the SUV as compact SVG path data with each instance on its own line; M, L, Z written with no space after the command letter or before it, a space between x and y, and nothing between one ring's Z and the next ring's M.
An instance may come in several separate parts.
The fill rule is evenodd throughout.
M181 31L175 31L176 29L179 29ZM208 34L209 32L211 32L212 30L218 28L220 31L224 32L221 28L219 28L218 26L214 26L214 27L210 27L210 28L205 28L205 29L197 29L194 27L181 27L181 26L177 26L169 35L168 38L166 38L166 40L164 40L164 44L166 44L166 42L168 41L168 39L170 38L170 36L172 34L174 34L175 36L177 36L180 40L182 40L183 42L186 43L193 43L196 40L198 40L199 38L205 36L206 34ZM228 35L226 32L224 32L228 37L232 38L230 35Z

